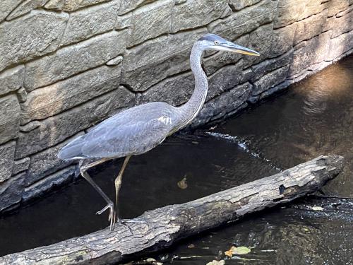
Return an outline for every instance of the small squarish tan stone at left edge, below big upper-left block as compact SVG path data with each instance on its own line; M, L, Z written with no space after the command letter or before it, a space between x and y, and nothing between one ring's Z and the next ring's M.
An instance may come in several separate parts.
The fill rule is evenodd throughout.
M23 86L25 67L23 65L8 69L0 73L0 95L18 90Z

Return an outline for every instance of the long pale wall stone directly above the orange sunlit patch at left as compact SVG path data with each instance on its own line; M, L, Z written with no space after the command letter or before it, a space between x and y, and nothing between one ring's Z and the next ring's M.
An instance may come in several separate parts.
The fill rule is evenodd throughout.
M105 64L124 52L127 31L92 37L26 64L25 88L31 91Z

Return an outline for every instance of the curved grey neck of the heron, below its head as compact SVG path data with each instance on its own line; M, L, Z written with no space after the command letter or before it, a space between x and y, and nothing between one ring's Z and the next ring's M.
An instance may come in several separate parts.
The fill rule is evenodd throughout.
M201 67L202 53L203 49L196 42L190 54L190 66L195 76L195 90L189 101L180 107L183 125L189 124L200 112L208 92L207 76Z

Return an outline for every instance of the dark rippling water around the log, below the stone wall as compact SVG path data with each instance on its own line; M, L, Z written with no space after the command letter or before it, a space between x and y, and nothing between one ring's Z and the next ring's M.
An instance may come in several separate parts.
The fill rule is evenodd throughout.
M121 187L123 218L179 204L292 167L325 153L345 170L323 191L353 197L353 57L246 110L215 129L179 134L131 159ZM92 170L114 197L122 160ZM186 177L187 187L178 182ZM311 206L324 211L310 211ZM85 181L0 219L0 256L84 235L108 225L104 201ZM184 240L152 257L164 264L225 259L232 245L251 253L225 264L353 264L353 200L304 199ZM189 247L188 247L189 246ZM192 246L192 247L191 247Z

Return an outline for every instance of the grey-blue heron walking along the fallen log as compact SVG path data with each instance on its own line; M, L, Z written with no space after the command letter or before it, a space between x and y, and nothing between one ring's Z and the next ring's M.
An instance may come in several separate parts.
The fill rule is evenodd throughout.
M80 175L107 202L107 206L97 211L97 214L109 210L110 230L114 230L115 223L121 223L117 208L119 189L124 170L131 156L150 151L162 143L167 136L183 129L203 107L208 93L208 78L201 66L205 50L260 55L252 49L241 47L218 35L204 35L193 44L191 49L190 66L195 78L195 88L191 98L184 105L174 107L165 102L149 102L131 107L105 119L87 134L73 139L59 151L58 157L60 159L79 161ZM114 158L125 158L114 181L115 205L87 172L90 167Z

